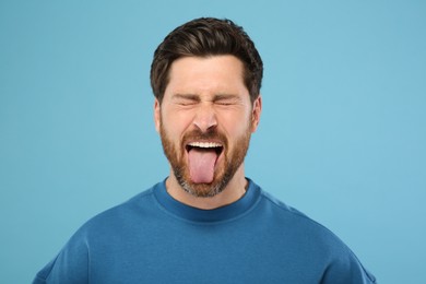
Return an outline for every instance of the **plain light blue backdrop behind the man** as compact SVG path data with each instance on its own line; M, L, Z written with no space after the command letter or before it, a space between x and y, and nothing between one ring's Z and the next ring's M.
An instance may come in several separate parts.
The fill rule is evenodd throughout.
M247 175L336 233L380 283L426 283L424 1L0 2L0 282L168 174L155 47L229 17L264 61Z

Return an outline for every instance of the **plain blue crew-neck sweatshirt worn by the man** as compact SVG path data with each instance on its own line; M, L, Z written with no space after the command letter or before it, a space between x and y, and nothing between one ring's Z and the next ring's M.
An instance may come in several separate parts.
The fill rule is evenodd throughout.
M329 229L249 180L229 205L182 204L165 182L84 224L37 283L375 283Z

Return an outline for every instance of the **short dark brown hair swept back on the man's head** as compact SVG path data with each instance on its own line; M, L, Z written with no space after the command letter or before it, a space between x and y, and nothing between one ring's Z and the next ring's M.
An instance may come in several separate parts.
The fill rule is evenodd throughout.
M154 52L151 86L159 104L169 82L171 63L182 57L232 55L244 63L244 83L251 102L260 94L263 63L253 42L230 20L200 17L175 28Z

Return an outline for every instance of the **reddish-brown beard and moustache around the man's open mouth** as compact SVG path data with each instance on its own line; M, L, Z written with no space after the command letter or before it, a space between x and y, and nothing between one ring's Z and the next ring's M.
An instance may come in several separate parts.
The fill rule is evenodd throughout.
M237 138L234 143L234 147L229 149L226 135L220 133L216 129L209 130L204 133L200 130L190 131L184 135L180 144L176 145L168 138L167 132L161 122L159 135L162 139L163 150L180 187L186 192L198 198L211 198L221 193L233 179L235 173L238 170L246 157L251 137L250 127L251 123L248 123L245 133ZM221 141L223 146L222 153L220 154L223 154L223 161L221 162L223 166L220 165L218 167L215 167L213 180L209 184L197 184L190 178L188 161L185 155L187 151L186 145L188 141L197 140Z

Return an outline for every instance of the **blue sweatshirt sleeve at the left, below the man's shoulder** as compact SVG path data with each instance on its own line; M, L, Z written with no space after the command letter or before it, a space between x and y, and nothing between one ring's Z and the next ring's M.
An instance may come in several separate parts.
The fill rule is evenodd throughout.
M33 284L57 283L88 283L88 246L81 234L75 234L33 280Z

